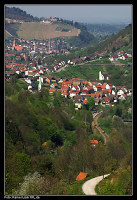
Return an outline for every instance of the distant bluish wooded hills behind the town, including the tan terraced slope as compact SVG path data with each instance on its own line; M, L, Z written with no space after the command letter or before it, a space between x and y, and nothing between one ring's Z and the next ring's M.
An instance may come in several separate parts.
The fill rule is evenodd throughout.
M95 45L97 39L93 34L89 33L84 25L78 22L58 19L51 24L40 24L41 20L27 14L25 11L15 7L5 7L5 17L9 19L22 20L23 24L6 23L6 30L15 37L24 38L26 40L65 37L70 46L84 47L87 45ZM33 22L33 23L31 23ZM35 23L34 23L35 22Z

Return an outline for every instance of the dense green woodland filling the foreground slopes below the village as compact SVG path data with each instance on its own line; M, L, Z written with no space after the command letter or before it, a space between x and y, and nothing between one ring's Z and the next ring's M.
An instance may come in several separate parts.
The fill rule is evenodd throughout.
M77 195L80 171L92 178L129 165L131 170L132 129L117 106L104 109L105 122L112 120L107 113L117 116L104 146L102 136L92 132L90 105L75 111L70 99L51 96L46 88L30 93L15 77L5 82L6 194ZM96 149L89 143L93 138L99 141ZM131 179L121 194L129 194L129 187Z

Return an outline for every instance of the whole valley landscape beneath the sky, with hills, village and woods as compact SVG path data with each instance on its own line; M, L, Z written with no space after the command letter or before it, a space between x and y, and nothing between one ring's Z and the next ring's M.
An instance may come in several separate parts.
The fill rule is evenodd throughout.
M5 195L132 195L132 25L7 11Z

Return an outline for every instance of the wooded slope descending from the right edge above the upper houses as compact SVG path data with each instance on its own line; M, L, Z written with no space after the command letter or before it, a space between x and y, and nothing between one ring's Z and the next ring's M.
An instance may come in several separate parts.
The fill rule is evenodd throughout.
M109 36L105 41L100 43L89 44L85 48L79 48L78 50L65 55L63 59L72 59L81 56L91 56L95 52L106 53L106 54L115 54L116 51L132 49L132 25L129 24L120 32L115 35Z

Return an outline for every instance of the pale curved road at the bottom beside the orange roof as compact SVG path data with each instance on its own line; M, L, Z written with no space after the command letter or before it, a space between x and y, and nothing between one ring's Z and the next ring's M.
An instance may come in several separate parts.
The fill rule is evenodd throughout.
M104 175L104 178L107 177L109 174ZM95 192L95 186L103 179L103 175L102 176L98 176L95 178L92 178L88 181L86 181L83 185L82 185L82 190L86 195L97 195L97 193Z

